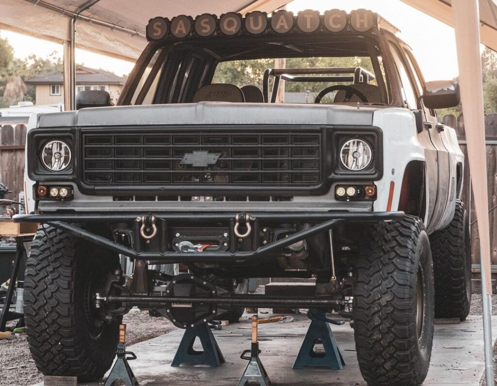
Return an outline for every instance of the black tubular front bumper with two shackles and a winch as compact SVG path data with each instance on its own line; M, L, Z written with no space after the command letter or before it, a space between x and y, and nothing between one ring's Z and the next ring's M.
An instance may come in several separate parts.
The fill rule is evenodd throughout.
M327 232L338 224L344 222L363 223L389 220L402 220L404 212L312 212L312 213L278 213L261 212L249 213L250 222L255 230L259 224L278 223L311 223L310 228L295 232L288 237L281 238L264 246L259 246L257 239L252 240L250 251L235 249L236 236L233 234L235 219L244 218L245 213L154 213L158 229L160 246L158 250L146 250L144 240L140 237L139 220L144 214L41 214L41 215L16 215L15 223L43 223L71 233L84 240L90 241L116 253L129 256L133 259L151 260L156 263L193 263L193 262L247 262L267 258L271 253L295 242L312 237L316 234ZM145 214L150 218L152 214ZM81 224L131 224L135 230L133 247L109 240L101 235L87 231ZM199 226L213 223L224 223L230 231L230 249L226 251L203 252L176 252L167 250L166 229L170 224ZM78 224L78 225L74 225ZM243 226L243 224L242 224ZM256 234L257 232L252 232ZM256 237L256 236L253 236Z

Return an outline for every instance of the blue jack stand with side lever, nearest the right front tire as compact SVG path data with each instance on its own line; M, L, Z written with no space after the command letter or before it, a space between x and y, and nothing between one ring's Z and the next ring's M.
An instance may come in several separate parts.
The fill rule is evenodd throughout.
M310 309L307 317L311 319L311 325L307 330L304 342L300 347L299 354L293 364L293 369L303 367L328 367L333 370L342 370L345 361L338 349L338 344L331 332L330 324L342 325L343 321L332 320L326 317L326 312ZM314 346L322 343L325 353L317 353Z

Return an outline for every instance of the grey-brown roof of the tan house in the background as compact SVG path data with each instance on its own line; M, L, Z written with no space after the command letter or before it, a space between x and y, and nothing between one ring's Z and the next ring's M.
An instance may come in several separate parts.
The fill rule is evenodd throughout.
M89 67L76 67L77 84L124 84L126 79L105 70L90 69ZM43 75L27 79L27 84L62 84L64 82L63 74Z

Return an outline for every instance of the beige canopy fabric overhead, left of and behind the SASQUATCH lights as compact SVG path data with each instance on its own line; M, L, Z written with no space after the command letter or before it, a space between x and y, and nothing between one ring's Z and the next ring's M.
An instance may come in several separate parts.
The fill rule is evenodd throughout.
M85 20L76 23L76 45L89 51L134 61L147 40L145 27L155 16L242 12L259 9L271 12L290 0L100 0L81 12ZM88 0L1 0L0 28L57 42L70 40L69 19ZM73 13L72 13L73 12ZM86 21L87 18L94 20ZM43 22L40 22L43 20ZM102 21L108 26L97 23ZM111 28L113 25L126 29Z

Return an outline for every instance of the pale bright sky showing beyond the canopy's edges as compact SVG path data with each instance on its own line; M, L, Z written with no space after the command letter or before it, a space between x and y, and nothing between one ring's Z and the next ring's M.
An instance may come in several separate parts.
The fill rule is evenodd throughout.
M304 9L324 12L331 8L346 11L371 9L394 24L401 30L398 36L413 48L426 80L452 79L458 75L454 29L400 0L294 0L287 5L287 9L294 13ZM0 36L8 39L17 58L24 59L31 54L44 57L53 51L62 58L60 44L6 30L1 30ZM133 68L133 63L80 49L76 50L76 62L120 76Z

